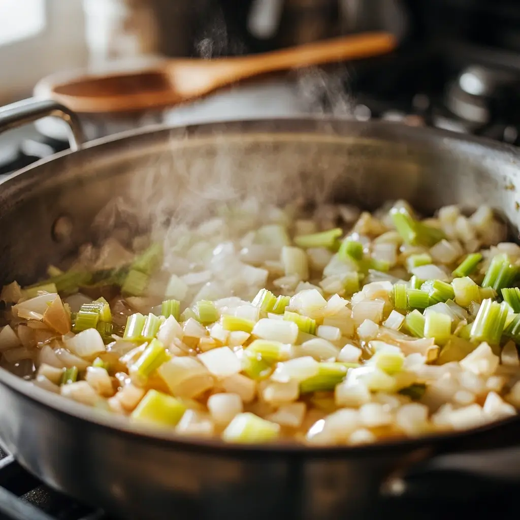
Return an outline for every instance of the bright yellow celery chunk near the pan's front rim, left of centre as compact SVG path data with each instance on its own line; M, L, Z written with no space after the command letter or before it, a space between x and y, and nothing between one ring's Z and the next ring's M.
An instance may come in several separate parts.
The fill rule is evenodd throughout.
M175 397L149 390L132 412L131 418L135 421L175 426L185 411L186 406Z

